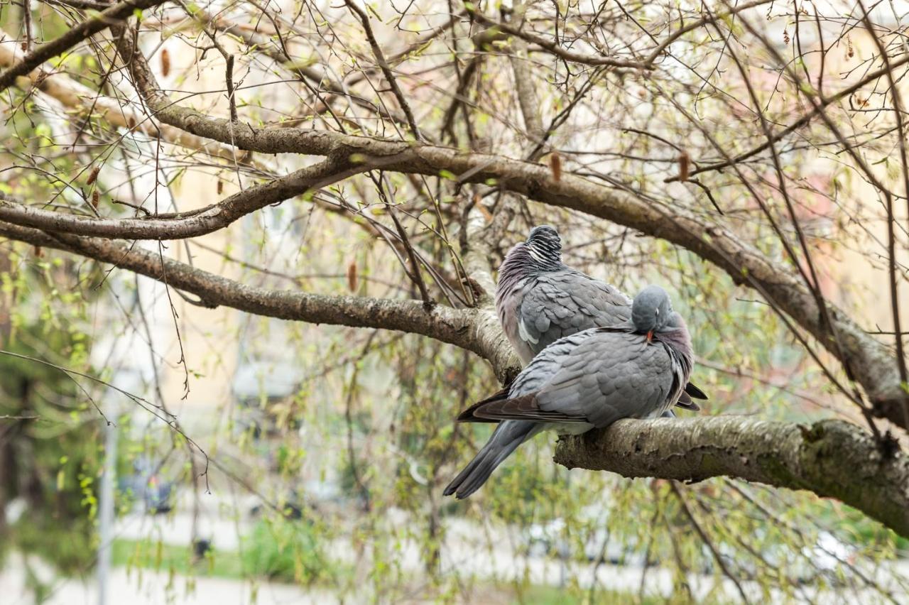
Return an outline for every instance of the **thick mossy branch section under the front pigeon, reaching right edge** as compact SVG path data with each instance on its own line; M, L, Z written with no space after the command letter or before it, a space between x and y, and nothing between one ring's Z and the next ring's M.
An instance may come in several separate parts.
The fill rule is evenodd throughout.
M726 476L813 491L909 537L909 456L891 445L882 451L870 433L834 420L807 427L740 416L624 420L561 438L555 461L632 478Z

